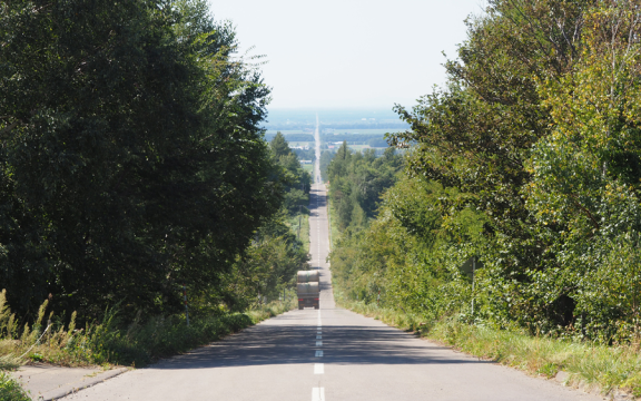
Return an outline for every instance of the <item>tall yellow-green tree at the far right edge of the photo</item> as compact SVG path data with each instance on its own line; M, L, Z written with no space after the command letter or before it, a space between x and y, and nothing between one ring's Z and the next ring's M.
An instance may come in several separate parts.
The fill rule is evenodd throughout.
M637 13L625 1L588 12L580 60L562 78L542 82L553 131L534 146L525 188L540 236L552 238L560 266L535 278L550 294L566 288L592 336L640 334Z

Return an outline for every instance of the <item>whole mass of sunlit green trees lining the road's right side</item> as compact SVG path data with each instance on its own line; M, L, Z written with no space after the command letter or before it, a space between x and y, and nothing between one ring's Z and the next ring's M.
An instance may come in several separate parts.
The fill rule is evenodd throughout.
M407 178L376 189L375 221L352 224L352 187L332 182L338 224L362 227L333 253L346 296L638 342L640 21L634 1L563 0L494 0L469 19L447 85L396 107L411 130L387 138L411 148Z

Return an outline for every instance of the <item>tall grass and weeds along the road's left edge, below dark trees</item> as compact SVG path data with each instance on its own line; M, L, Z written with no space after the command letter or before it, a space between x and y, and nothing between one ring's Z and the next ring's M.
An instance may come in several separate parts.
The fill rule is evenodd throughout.
M294 300L218 316L191 319L184 315L156 316L141 322L122 322L116 309L108 310L101 322L76 327L76 313L65 325L49 314L47 302L30 326L19 327L10 313L6 292L0 293L0 370L14 369L29 361L66 366L141 366L160 358L188 351L216 341L257 322L295 309Z

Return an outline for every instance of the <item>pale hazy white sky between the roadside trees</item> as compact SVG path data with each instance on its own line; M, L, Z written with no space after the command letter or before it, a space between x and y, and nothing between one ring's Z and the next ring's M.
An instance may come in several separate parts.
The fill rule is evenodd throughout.
M392 108L442 85L484 0L209 0L241 49L266 55L269 108Z

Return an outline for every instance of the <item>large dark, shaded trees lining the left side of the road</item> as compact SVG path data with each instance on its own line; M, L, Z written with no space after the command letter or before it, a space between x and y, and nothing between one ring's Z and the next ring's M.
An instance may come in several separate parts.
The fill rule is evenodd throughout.
M19 314L170 312L283 198L269 89L200 0L0 4L0 286Z

